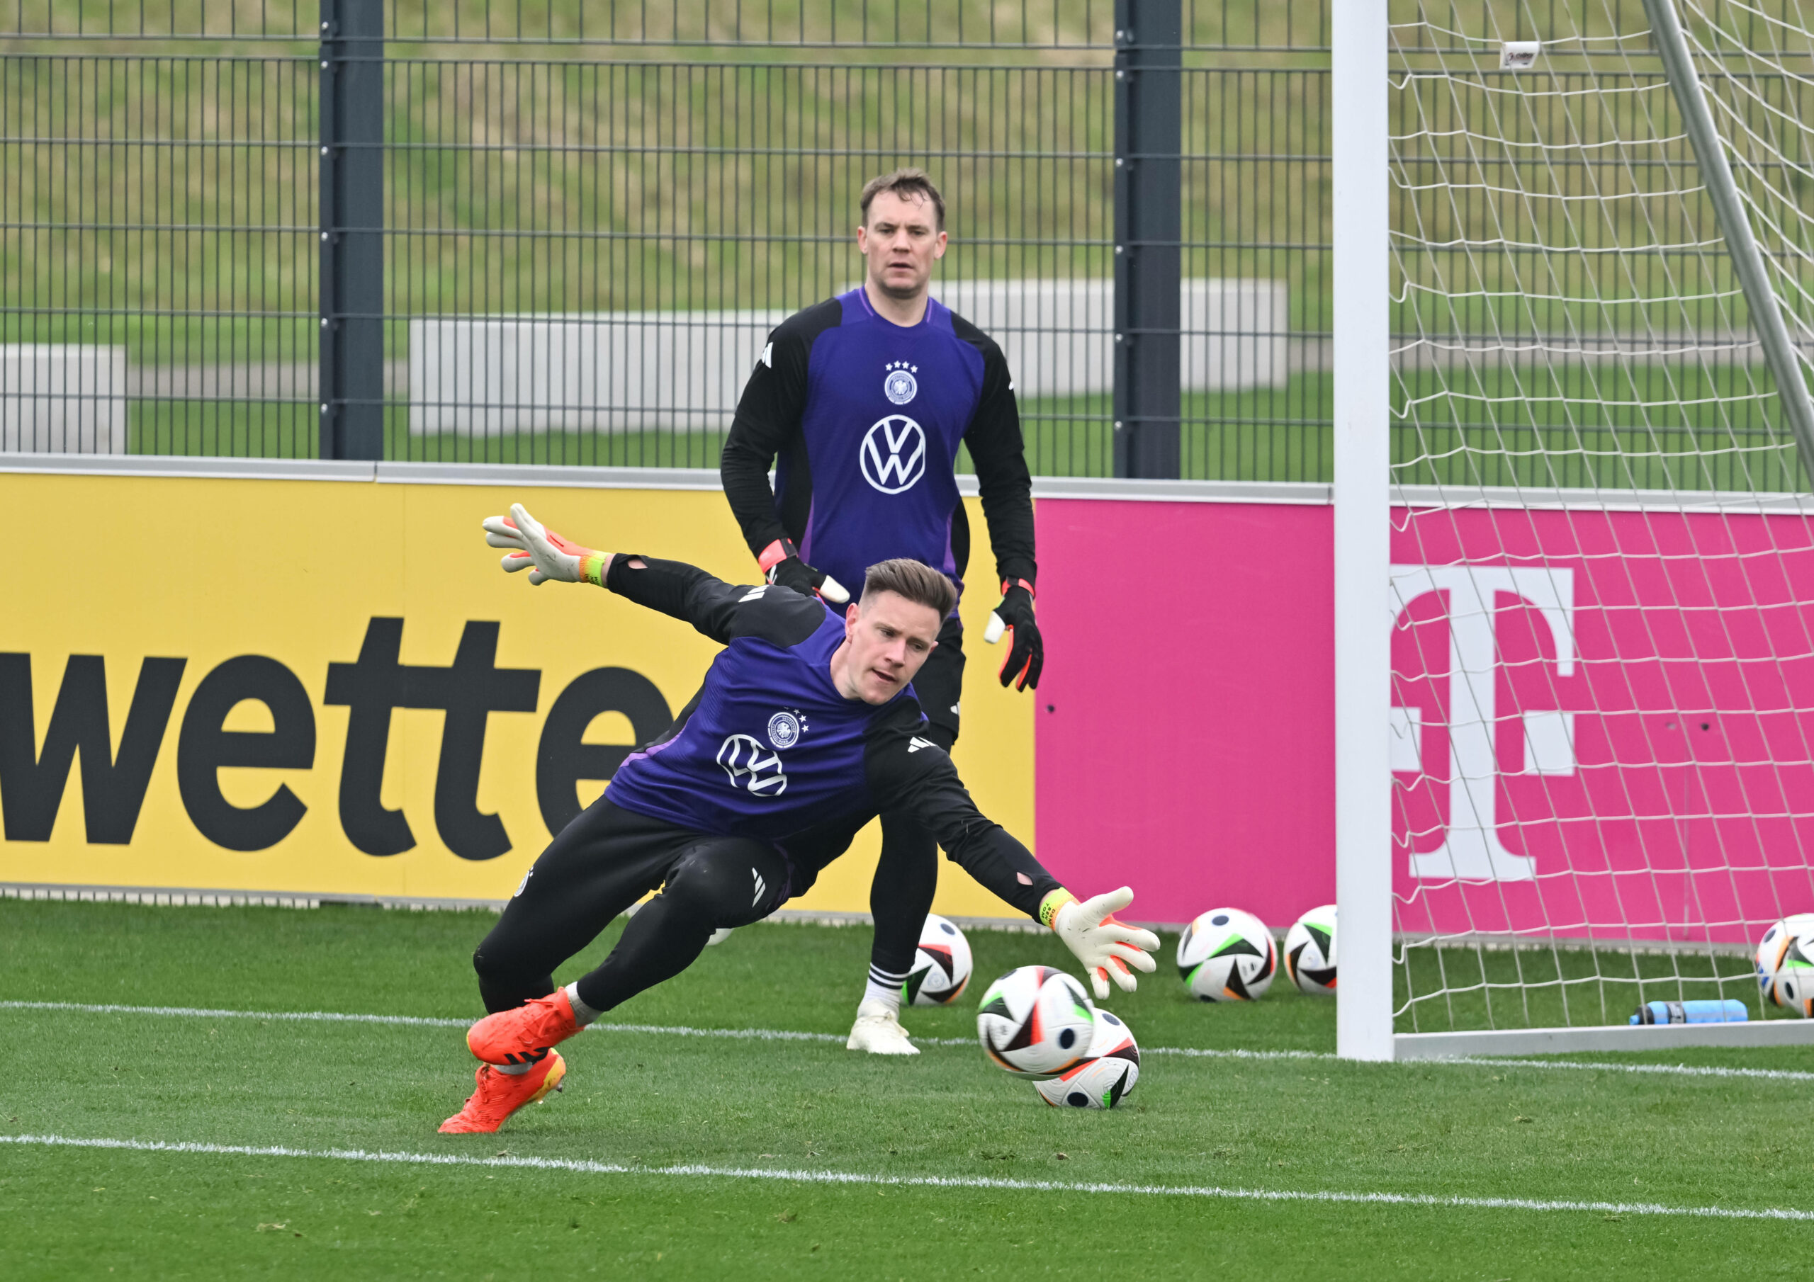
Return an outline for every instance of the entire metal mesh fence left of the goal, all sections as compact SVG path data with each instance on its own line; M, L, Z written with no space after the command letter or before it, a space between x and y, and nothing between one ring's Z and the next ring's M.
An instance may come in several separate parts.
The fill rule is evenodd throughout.
M354 4L0 16L0 448L323 453L319 15ZM1328 479L1326 0L1183 7L1181 470ZM383 227L332 232L381 234L385 455L715 466L912 163L1034 470L1107 475L1116 13L386 2Z

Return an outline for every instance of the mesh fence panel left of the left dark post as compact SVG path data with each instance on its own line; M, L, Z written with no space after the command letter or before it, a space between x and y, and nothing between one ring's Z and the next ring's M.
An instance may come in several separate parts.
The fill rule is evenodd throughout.
M316 453L312 60L0 56L0 448Z

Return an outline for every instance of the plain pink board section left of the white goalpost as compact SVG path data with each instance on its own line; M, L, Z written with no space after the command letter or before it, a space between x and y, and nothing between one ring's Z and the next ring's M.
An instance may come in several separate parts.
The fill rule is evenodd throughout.
M1335 898L1330 508L1039 499L1039 860L1290 925Z

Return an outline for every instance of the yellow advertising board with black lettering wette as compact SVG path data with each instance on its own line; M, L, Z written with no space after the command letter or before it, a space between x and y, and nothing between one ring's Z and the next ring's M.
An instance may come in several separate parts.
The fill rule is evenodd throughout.
M508 898L717 646L501 573L481 519L519 500L595 548L756 577L707 490L263 471L0 471L33 531L0 569L0 883ZM970 528L987 582L980 511ZM972 655L990 604L963 604ZM1030 845L1032 700L990 658L972 658L958 769ZM787 907L867 910L876 850L871 825ZM952 863L936 907L1014 916Z

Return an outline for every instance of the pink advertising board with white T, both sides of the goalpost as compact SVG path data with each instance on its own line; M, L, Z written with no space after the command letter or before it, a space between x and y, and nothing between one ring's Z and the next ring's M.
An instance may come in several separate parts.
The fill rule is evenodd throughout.
M1038 515L1041 860L1148 921L1333 899L1330 510ZM1400 510L1393 562L1400 930L1738 941L1814 908L1809 519Z

